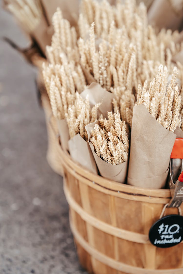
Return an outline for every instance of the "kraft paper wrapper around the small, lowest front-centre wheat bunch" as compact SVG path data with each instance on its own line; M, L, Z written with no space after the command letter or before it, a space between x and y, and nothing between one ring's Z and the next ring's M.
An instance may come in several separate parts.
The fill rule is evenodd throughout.
M124 183L126 179L128 160L119 165L109 164L97 156L97 154L94 151L93 144L89 141L91 138L91 131L94 129L94 125L96 123L98 124L99 120L97 120L95 123L86 125L85 129L88 133L88 143L90 145L100 175L115 182Z

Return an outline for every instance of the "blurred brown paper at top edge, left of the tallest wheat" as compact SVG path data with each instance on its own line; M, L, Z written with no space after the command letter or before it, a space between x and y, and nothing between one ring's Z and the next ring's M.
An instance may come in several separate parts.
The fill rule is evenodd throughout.
M61 9L63 18L67 19L71 26L76 25L79 13L79 0L41 0L41 2L50 25L52 24L52 16L56 12L57 7Z

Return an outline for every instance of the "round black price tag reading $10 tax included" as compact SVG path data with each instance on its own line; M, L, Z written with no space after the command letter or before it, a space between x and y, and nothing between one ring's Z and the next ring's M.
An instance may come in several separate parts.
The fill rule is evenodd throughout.
M153 224L149 239L154 246L166 248L183 240L183 216L168 215Z

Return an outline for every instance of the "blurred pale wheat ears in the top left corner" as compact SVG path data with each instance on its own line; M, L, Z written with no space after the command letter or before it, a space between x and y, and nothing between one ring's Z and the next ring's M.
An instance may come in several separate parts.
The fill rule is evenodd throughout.
M43 15L40 0L5 0L5 4L28 32L35 30Z

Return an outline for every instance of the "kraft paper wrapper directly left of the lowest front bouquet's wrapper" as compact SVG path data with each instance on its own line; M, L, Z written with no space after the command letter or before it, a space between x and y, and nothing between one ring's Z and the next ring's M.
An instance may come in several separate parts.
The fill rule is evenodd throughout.
M94 174L98 174L95 159L88 142L78 133L68 142L72 159Z

